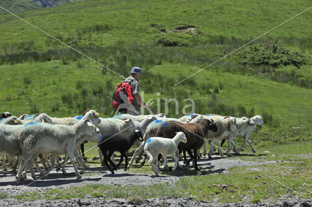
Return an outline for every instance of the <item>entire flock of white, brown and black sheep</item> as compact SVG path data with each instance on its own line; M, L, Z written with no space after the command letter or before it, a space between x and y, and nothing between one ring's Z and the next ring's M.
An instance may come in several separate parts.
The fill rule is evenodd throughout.
M255 152L248 139L255 130L255 125L263 125L261 116L235 118L218 114L190 114L176 119L167 118L165 114L160 113L138 116L117 114L113 118L101 118L96 111L88 110L82 115L57 118L45 113L22 114L16 117L5 112L0 114L0 156L3 170L7 170L5 156L14 173L18 167L15 179L17 185L21 178L26 179L28 170L34 180L38 179L32 164L38 169L40 177L46 177L57 163L57 171L61 169L63 174L66 173L64 166L68 159L77 178L81 178L76 162L82 169L89 168L83 153L85 141L98 143L100 162L113 174L123 158L126 162L125 170L130 169L141 152L136 163L144 153L141 165L144 165L148 157L148 164L151 164L158 175L161 157L164 165L160 169L168 167L167 155L175 159L173 170L176 167L181 168L178 162L181 152L184 155L184 164L188 165L193 161L195 169L198 169L197 157L201 156L199 149L203 146L203 155L207 154L205 141L211 143L209 158L215 144L220 155L223 155L220 149L224 140L228 140L228 154L232 148L239 153L247 143ZM244 139L244 144L239 149L235 146L236 137ZM222 143L220 139L223 139ZM127 151L133 145L137 145L137 149L128 163ZM118 164L114 161L115 151L120 152ZM186 152L190 155L189 159ZM65 154L65 157L60 163L59 155L62 154ZM38 158L45 172L40 168Z

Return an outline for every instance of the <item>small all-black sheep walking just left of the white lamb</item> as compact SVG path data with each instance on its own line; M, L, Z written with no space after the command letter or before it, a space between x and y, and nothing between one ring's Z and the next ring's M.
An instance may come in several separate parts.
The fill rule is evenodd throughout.
M123 157L125 157L126 160L125 170L127 170L128 156L126 155L126 151L131 148L136 140L143 141L142 137L142 133L138 130L133 131L130 136L123 136L119 134L106 134L101 137L98 142L98 147L102 151L103 160L106 167L112 172L112 174L114 174L114 170L116 170L119 167L120 163L123 161ZM111 160L111 156L114 151L119 151L121 154L119 163L117 165L115 165ZM107 161L114 167L113 169L108 165Z

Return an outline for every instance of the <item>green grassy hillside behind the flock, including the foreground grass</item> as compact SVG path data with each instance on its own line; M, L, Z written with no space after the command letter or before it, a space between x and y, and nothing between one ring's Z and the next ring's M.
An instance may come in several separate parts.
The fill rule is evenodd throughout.
M312 138L312 10L174 85L311 5L311 0L251 0L247 4L242 0L85 0L17 15L124 77L133 66L141 67L140 92L146 102L155 101L154 112L158 105L161 112L168 109L168 116L180 117L183 107L190 104L185 99L191 98L196 113L261 115L265 125L250 137L259 149L257 156L241 158L293 161L285 164L292 169L286 176L274 166L263 168L300 190L311 174L307 167L311 158L302 161L295 154L310 153ZM111 98L122 77L101 70L95 62L12 15L0 15L0 27L0 112L58 117L86 109L95 109L102 117L113 113ZM166 106L170 98L178 100L177 112L174 102ZM186 113L191 113L190 107ZM272 152L263 155L266 150ZM150 167L134 170L151 173ZM287 193L288 189L280 190L272 180L257 182L256 172L247 168L241 178L232 176L240 170L183 178L176 189L195 196L207 189L203 199L209 199L218 193L206 188L208 182L211 186L226 178L232 184L238 179L240 183L233 186L236 197L231 200L233 193L227 192L221 200L242 200L240 195L249 195L255 188L253 182L246 183L248 177L257 183L254 202ZM242 180L246 186L240 189ZM272 195L269 188L261 192L269 184L278 193Z

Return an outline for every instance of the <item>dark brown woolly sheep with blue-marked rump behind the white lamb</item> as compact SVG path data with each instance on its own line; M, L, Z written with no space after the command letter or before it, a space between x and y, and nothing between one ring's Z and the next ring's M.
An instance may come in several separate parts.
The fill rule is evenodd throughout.
M187 164L194 159L195 169L199 169L197 167L196 153L197 149L200 149L200 147L204 144L205 136L208 130L212 130L214 132L217 131L215 122L212 119L202 119L198 123L166 121L158 127L156 136L173 138L176 135L176 132L184 132L187 137L187 143L180 143L178 145L178 149L186 150L191 156L191 158L187 161ZM192 150L194 151L194 154L192 153Z

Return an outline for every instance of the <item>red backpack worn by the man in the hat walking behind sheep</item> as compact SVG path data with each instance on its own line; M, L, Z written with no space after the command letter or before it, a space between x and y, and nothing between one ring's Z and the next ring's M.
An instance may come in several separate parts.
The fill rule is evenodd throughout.
M120 95L119 95L120 92L122 92L123 94L125 94L128 97L128 104L131 104L132 101L134 100L134 98L132 96L132 92L131 92L131 89L132 89L131 83L133 81L134 80L130 80L129 83L128 82L122 82L116 86L116 91L114 92L113 101L112 101L115 112L116 112L116 110L119 109L119 105L124 103L124 101L120 98Z

